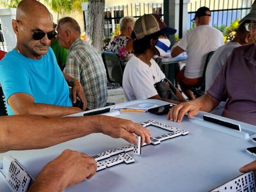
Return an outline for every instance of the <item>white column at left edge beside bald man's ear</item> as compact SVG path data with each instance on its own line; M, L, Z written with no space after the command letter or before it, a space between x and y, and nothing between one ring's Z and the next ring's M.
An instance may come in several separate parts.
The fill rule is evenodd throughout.
M11 51L17 43L16 35L12 29L12 19L16 19L16 8L0 9L0 19L7 51Z

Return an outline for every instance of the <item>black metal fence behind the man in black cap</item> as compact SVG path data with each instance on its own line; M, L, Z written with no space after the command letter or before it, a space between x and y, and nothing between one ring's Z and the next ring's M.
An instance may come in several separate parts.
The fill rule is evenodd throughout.
M198 0L188 4L188 23L189 28L193 23L191 20L195 17L195 12L199 7L209 7L211 10L211 26L220 27L222 24L228 26L231 21L243 18L249 13L252 0Z

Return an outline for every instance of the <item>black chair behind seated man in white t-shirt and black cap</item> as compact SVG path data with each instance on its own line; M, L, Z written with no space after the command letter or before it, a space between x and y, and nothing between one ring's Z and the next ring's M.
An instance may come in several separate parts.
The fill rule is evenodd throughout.
M196 98L204 95L204 93L205 93L205 72L206 72L208 62L211 59L214 52L215 51L211 51L207 54L205 64L204 64L204 71L203 71L203 75L202 75L202 82L196 86L195 85L185 85L186 87L188 87L189 90L191 90L193 92L193 94L196 96Z

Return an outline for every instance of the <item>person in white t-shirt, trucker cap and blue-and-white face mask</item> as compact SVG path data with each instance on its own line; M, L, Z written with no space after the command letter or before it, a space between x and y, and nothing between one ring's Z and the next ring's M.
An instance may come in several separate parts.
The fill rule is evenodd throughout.
M135 22L133 32L136 36L133 43L135 56L124 69L124 101L157 99L174 104L186 102L177 89L174 89L174 94L180 102L161 98L154 87L165 75L152 58L154 55L166 54L170 41L164 34L173 35L176 30L167 27L160 16L147 14Z

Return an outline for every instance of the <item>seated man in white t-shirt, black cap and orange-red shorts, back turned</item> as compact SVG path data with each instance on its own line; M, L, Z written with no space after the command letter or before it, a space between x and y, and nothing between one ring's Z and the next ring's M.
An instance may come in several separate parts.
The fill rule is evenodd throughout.
M189 100L196 97L187 86L197 85L202 82L207 54L224 44L223 34L218 29L209 26L211 20L209 8L200 7L196 11L193 20L195 20L196 28L188 31L171 52L171 56L176 57L180 53L187 51L188 59L185 70L182 69L178 73L177 79L181 90L188 96Z

